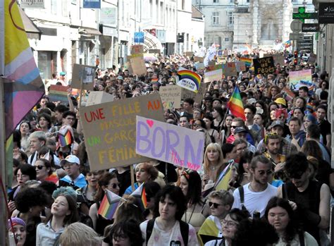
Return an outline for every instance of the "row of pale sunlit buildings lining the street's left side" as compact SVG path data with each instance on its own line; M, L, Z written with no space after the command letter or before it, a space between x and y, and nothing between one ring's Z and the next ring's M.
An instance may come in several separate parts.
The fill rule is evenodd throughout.
M204 16L195 9L193 17L191 0L101 0L101 8L83 8L81 0L44 0L44 8L23 11L41 32L29 41L43 80L62 71L71 78L73 63L125 64L135 32L145 33L144 47L151 47L149 40L164 55L196 51L204 43Z

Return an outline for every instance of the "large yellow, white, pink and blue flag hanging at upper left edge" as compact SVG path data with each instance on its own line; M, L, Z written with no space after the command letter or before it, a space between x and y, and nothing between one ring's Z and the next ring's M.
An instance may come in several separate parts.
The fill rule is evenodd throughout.
M45 90L15 0L4 0L4 29L7 139Z

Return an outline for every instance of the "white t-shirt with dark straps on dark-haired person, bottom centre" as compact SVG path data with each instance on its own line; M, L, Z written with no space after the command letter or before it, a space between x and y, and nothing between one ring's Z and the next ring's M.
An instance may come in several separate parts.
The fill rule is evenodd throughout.
M143 246L146 245L147 223L148 221L144 221L140 224L140 230L142 230L142 237L144 238ZM176 221L175 225L173 226L173 228L171 228L171 230L162 230L156 224L156 221L154 221L153 230L151 233L151 237L149 238L149 242L147 243L147 246L155 246L155 245L170 246L172 241L180 241L181 245L185 245L180 231L180 222ZM199 246L196 230L192 225L189 225L188 245Z

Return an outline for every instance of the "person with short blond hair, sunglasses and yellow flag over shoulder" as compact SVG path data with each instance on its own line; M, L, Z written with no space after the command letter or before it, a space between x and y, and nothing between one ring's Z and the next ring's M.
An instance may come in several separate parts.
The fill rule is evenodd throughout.
M233 195L226 190L213 191L209 194L211 215L206 218L198 232L203 244L223 237L221 220L225 219L232 208L233 201Z

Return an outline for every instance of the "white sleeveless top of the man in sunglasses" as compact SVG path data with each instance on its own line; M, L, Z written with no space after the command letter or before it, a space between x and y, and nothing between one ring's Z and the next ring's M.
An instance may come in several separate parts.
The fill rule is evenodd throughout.
M264 211L266 210L268 201L271 197L275 197L277 195L277 187L268 184L266 190L261 192L252 192L249 190L248 186L249 183L242 186L245 194L244 205L251 216L253 216L254 211L259 211L262 217L264 216ZM234 202L232 208L241 209L240 194L238 189L235 189L233 192L233 197Z

